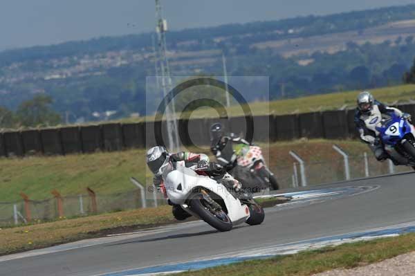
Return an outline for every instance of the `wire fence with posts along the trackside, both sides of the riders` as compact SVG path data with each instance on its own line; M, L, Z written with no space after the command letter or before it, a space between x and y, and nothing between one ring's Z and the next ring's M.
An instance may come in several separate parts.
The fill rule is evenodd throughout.
M349 167L348 174L346 173L347 166ZM305 162L303 169L301 169L301 164L297 162L290 166L270 167L270 169L275 173L282 188L301 187L304 186L304 181L307 185L344 181L347 180L348 175L350 179L356 179L412 171L412 167L396 167L391 165L388 160L378 162L373 155L365 153L348 156L347 163L339 155L338 158L333 160L322 160L314 163ZM151 189L151 191L153 190ZM0 226L38 220L51 221L166 204L160 193L157 193L156 199L154 199L151 191L150 189L147 191L136 189L118 194L95 194L90 190L88 194L55 196L44 201L27 199L15 203L0 203Z

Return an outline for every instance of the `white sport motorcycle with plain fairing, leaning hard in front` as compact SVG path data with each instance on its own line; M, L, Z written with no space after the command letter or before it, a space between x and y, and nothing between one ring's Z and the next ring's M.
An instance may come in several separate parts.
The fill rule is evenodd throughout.
M194 217L203 219L219 231L229 231L234 225L261 224L264 209L253 199L241 202L214 179L185 167L183 161L164 179L168 199Z

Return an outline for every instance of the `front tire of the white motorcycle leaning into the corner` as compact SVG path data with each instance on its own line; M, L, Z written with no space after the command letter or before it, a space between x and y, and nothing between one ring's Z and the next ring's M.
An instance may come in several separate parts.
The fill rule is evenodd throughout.
M215 216L215 214L203 204L203 201L205 201L205 199L203 199L203 194L197 193L192 195L190 197L190 209L213 228L216 228L221 232L230 231L233 225L228 215L222 210L222 213L220 214L221 218Z

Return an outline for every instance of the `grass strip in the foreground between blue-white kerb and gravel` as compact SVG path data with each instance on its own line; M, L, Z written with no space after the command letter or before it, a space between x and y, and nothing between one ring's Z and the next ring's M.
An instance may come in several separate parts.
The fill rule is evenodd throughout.
M177 276L313 275L335 268L365 266L415 250L415 233L399 237L347 243L265 260L244 261Z

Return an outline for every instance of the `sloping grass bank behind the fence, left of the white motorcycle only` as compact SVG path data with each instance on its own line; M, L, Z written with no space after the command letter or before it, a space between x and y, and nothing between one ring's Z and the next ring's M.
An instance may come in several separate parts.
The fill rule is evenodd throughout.
M145 183L144 149L69 156L36 156L0 160L0 202L19 201L20 192L30 199L86 194L91 187L97 194L126 192L135 187L129 182L135 176ZM150 176L150 175L148 175Z

